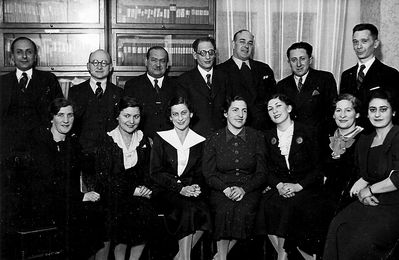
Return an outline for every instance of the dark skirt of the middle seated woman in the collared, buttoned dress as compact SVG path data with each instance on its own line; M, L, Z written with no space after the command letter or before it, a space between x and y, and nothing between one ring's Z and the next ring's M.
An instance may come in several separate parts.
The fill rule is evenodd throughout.
M248 192L241 201L212 191L210 204L215 218L214 239L246 239L253 235L260 192Z

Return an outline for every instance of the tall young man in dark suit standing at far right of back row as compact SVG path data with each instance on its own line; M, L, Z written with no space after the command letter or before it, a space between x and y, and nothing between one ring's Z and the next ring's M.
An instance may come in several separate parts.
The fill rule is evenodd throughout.
M367 119L367 100L370 93L381 88L391 92L394 100L397 99L396 82L399 72L375 57L380 41L378 29L374 25L358 24L353 27L352 43L358 64L342 73L340 93L350 93L360 99L363 106L358 123L366 127L367 131L372 128ZM394 109L397 110L398 106Z

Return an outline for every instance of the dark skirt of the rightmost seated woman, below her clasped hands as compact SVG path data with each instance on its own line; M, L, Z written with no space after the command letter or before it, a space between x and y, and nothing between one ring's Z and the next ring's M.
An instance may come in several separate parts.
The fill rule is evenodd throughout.
M331 222L323 259L384 259L399 238L398 216L399 204L353 202Z

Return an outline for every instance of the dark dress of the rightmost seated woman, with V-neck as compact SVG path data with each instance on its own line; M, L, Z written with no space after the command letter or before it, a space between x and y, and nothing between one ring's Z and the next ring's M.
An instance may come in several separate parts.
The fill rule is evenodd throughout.
M356 147L359 173L370 185L390 178L399 187L399 127L394 126L382 145L370 148L375 133L362 136ZM378 206L355 201L331 222L323 259L385 259L399 238L399 191L375 195Z

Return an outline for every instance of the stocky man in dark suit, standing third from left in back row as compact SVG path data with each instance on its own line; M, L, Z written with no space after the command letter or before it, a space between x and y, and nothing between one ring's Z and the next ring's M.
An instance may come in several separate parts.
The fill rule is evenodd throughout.
M143 105L139 127L153 138L157 131L172 128L166 111L169 100L176 95L176 84L165 74L168 52L162 46L148 49L144 63L147 72L128 80L123 95L134 97Z

